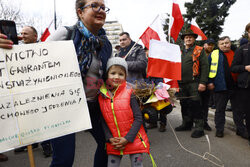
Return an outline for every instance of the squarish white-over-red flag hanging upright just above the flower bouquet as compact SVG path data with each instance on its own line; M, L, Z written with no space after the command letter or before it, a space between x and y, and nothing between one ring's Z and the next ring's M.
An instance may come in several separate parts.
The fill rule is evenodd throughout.
M179 45L150 40L147 75L181 80L181 51Z

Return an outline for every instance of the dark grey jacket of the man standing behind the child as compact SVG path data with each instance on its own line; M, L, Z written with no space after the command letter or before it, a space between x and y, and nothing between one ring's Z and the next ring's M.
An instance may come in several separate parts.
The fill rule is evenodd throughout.
M123 53L127 53L133 45L134 42L132 41L128 48L121 48L121 50L115 56L126 56ZM127 52L123 51L125 49L127 49ZM133 83L135 80L143 80L146 77L147 57L141 45L136 44L133 47L132 51L126 58L126 62L128 63L128 82Z

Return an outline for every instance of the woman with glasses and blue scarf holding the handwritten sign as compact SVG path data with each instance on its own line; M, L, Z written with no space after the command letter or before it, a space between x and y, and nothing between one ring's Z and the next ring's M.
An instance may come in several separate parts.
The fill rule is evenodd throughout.
M104 0L76 0L75 9L78 17L77 23L69 28L59 28L47 41L70 39L74 41L91 117L90 132L97 142L94 167L105 167L107 154L97 99L99 87L91 85L91 88L88 88L87 81L91 78L91 84L93 84L93 78L96 81L103 79L107 61L112 54L112 46L102 28L109 8L105 7ZM10 49L12 44L12 41L7 40L6 36L0 33L1 48ZM50 167L72 167L75 155L75 134L52 139L51 143L53 158Z

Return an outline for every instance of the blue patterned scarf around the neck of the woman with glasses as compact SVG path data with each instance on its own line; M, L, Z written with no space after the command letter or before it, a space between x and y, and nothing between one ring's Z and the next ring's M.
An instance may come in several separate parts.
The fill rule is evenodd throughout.
M100 29L98 35L93 35L83 24L82 21L77 22L77 29L82 34L81 44L77 53L78 63L82 77L84 78L90 68L93 56L97 56L101 60L98 52L101 50L107 40L104 29ZM99 61L99 74L103 75L102 61Z

